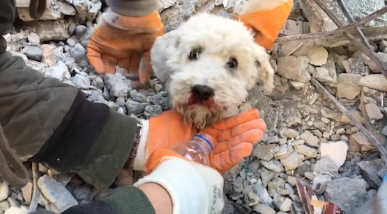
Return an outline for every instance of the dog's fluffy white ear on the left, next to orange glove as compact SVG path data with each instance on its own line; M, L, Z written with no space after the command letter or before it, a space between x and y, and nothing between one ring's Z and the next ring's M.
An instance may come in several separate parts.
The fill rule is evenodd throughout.
M180 36L179 29L165 33L156 38L151 49L152 69L155 76L161 81L168 81L173 73L173 69L168 66L168 61L177 52Z

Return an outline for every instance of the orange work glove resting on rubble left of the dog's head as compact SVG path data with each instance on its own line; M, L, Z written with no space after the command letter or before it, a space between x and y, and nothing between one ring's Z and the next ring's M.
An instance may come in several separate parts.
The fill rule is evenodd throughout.
M143 17L127 17L108 10L87 47L91 65L100 74L115 73L116 65L126 73L139 73L146 83L152 74L150 50L155 38L164 34L157 11Z

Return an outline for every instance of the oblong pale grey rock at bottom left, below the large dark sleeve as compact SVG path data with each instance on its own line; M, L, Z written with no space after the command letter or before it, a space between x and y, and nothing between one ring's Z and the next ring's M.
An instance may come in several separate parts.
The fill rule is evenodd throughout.
M78 204L73 195L61 183L56 182L48 175L39 178L38 186L45 198L58 208L59 213Z

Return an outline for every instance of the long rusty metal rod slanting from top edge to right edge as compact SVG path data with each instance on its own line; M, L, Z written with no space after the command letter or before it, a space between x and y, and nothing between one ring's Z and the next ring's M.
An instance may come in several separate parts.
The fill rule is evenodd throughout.
M326 15L328 15L328 17L330 17L332 19L332 21L335 22L335 24L337 25L338 28L344 27L342 22L340 22L340 20L337 18L337 16L326 7L324 2L322 2L321 0L314 0L314 2L317 3L317 5L321 8L321 10L324 10ZM358 31L360 31L360 29L358 29ZM343 34L345 35L345 37L348 38L348 40L353 42L356 45L356 47L361 49L361 51L363 51L363 53L365 53L365 55L367 55L370 59L372 59L376 63L377 67L379 67L379 69L381 69L381 72L384 74L384 76L386 76L386 79L387 79L387 64L384 63L379 57L377 57L377 55L374 53L374 51L372 49L370 49L369 47L366 47L365 44L362 44L360 41L358 41L354 37L354 35L352 35L349 32L344 32ZM361 33L361 34L363 35L363 33ZM367 44L370 45L368 42L367 42Z

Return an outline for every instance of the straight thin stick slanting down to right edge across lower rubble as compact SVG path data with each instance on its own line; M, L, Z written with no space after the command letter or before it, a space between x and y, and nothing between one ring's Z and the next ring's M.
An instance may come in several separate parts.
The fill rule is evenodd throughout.
M340 102L335 97L333 97L333 95L330 92L328 92L328 90L326 90L326 88L324 88L324 86L321 85L321 83L319 83L319 81L317 81L313 77L311 77L310 81L313 83L314 86L316 86L317 88L321 89L321 91L324 92L326 97L328 97L333 102L333 104L335 104L335 106L344 115L347 115L349 120L354 122L355 126L358 127L358 129L361 131L361 133L363 133L365 135L365 137L368 140L370 140L374 144L375 147L377 147L377 149L379 150L379 152L381 154L381 158L383 159L384 164L386 166L387 165L387 150L379 142L379 140L377 140L377 138L375 138L369 131L367 131L367 129L365 129L364 126L362 126L362 124L360 122L358 122L358 120L356 120L356 118L354 116L352 116L351 113L349 113L349 110L347 110L347 108L345 108L342 104L340 104Z

